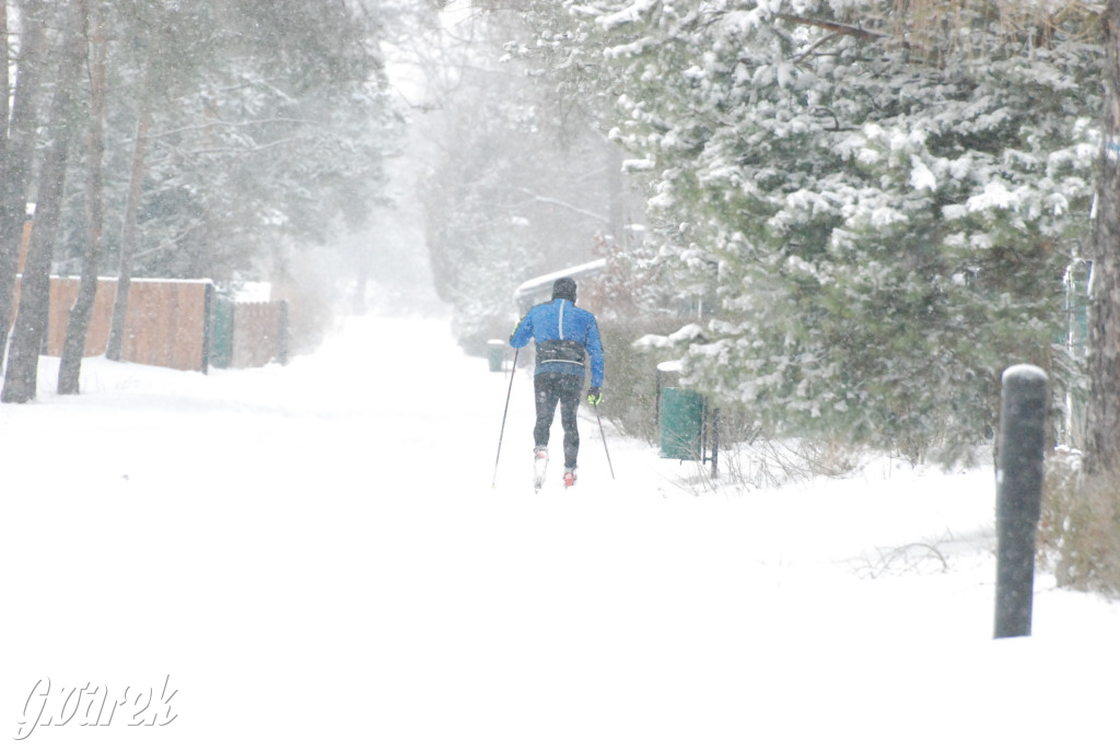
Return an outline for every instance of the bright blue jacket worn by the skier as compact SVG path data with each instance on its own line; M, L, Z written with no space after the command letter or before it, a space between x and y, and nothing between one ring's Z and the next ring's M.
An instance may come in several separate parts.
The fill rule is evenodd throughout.
M510 335L510 345L536 340L536 373L584 375L591 358L591 386L603 386L603 341L595 316L558 298L532 308Z

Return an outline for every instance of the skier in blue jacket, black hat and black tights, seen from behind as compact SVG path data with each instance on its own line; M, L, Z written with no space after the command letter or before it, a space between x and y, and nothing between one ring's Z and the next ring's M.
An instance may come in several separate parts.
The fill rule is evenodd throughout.
M579 456L579 428L576 412L584 389L587 358L590 357L591 387L587 392L589 404L603 401L603 341L595 316L576 307L576 280L564 276L552 284L551 302L532 308L521 319L510 345L524 347L536 340L536 370L533 373L533 392L536 402L536 424L533 426L534 484L540 489L548 463L549 432L560 403L560 424L563 426L563 484L576 484L576 459Z

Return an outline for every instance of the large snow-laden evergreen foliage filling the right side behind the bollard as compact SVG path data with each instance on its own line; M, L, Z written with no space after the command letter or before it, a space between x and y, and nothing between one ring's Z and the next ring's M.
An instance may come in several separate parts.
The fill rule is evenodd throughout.
M917 461L984 436L1007 366L1072 372L1054 342L1093 194L1091 16L564 8L538 17L540 47L561 86L612 93L661 255L716 306L690 383L774 433Z

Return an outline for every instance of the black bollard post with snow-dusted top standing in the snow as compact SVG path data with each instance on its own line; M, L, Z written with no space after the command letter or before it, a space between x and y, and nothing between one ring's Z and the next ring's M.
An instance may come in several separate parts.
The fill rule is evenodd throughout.
M1030 636L1047 401L1040 368L1016 365L1004 372L996 467L997 639Z

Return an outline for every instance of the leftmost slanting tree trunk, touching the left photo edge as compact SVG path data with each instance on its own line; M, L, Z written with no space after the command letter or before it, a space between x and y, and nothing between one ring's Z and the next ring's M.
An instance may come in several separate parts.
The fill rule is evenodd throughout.
M0 373L3 372L11 328L11 303L16 294L19 248L27 217L27 186L35 157L35 134L39 124L39 95L43 91L43 57L46 54L46 26L39 2L21 7L19 59L12 97L8 139L0 150ZM7 60L6 60L7 64ZM7 91L7 90L6 90Z

